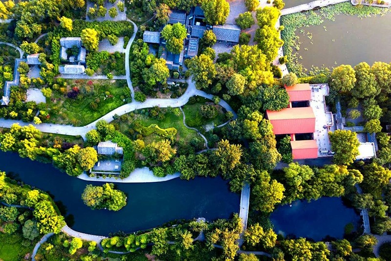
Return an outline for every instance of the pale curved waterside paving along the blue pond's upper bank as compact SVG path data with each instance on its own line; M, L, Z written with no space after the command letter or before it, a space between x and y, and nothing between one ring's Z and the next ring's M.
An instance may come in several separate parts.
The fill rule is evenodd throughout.
M78 178L87 181L101 181L101 182L116 182L116 183L150 183L150 182L162 182L177 178L180 173L174 173L165 177L157 177L153 175L153 172L147 167L135 169L129 177L120 179L115 177L89 177L85 172L78 176Z

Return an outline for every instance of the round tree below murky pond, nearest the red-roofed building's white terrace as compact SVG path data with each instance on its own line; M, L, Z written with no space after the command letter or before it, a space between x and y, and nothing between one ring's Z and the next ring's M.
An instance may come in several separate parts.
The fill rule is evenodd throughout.
M354 69L350 65L335 67L330 79L330 87L337 93L348 93L353 89L357 81Z

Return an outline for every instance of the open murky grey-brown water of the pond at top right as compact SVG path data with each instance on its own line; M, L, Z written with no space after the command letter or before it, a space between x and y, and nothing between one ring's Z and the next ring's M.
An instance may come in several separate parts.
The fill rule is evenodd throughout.
M391 52L387 50L388 43L391 41L391 34L387 33L390 31L390 12L384 16L377 15L362 19L340 14L335 15L334 22L323 20L320 25L296 30L296 35L300 36L302 42L297 52L297 56L301 56L302 59L298 62L304 68L309 70L312 65L354 66L361 62L372 65L378 61L386 63L391 61ZM300 33L301 30L305 33ZM308 33L312 35L312 40L307 37Z

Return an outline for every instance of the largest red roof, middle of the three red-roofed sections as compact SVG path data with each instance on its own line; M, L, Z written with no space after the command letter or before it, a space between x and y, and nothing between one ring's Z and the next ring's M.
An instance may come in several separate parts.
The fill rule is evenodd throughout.
M315 114L311 107L267 110L266 115L276 135L315 132Z

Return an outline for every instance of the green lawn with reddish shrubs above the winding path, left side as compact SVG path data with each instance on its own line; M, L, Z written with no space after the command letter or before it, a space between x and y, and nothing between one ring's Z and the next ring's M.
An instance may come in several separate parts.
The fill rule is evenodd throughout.
M72 92L76 97L69 98ZM129 97L126 80L66 80L66 88L53 91L46 107L50 122L85 126L126 104Z

